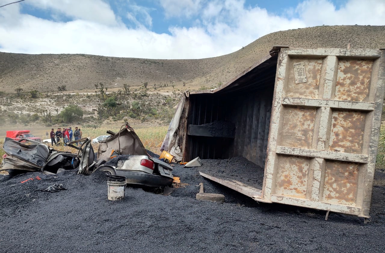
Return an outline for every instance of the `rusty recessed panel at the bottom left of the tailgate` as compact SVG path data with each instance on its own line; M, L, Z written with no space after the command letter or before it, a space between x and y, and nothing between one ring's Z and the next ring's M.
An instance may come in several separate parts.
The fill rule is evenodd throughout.
M279 155L275 194L288 197L306 197L309 158Z

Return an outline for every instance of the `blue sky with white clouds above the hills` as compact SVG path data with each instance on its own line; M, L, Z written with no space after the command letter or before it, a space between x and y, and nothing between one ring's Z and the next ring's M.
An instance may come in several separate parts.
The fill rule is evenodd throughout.
M201 59L271 32L355 24L385 25L385 0L25 0L0 8L0 52Z

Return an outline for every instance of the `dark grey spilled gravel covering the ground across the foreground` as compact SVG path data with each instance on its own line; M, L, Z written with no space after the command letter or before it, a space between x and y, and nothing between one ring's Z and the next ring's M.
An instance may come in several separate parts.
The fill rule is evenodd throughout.
M126 188L122 201L107 200L104 175L33 172L0 175L1 252L384 252L385 174L376 171L372 221L279 204L263 204L204 179L212 165L260 170L243 158L203 160L201 168L177 164L186 187L162 196ZM213 172L213 174L221 172ZM35 177L39 176L41 180ZM25 183L20 183L33 178ZM258 178L249 177L258 184ZM199 201L221 193L226 203ZM67 191L41 192L54 183Z

